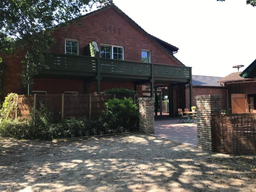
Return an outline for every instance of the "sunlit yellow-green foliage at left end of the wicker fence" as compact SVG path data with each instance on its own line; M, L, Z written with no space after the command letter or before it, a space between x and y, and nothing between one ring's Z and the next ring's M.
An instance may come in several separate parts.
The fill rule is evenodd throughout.
M5 97L5 101L3 103L2 108L0 109L0 118L15 118L16 108L17 108L17 94L9 93L7 97Z

